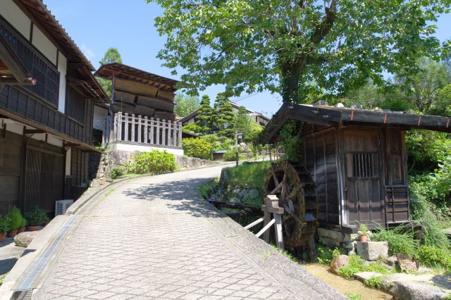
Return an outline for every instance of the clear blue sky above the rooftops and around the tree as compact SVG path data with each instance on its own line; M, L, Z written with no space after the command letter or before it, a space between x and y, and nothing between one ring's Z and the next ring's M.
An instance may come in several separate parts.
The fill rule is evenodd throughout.
M95 68L109 46L121 52L123 63L158 75L179 79L171 70L161 67L156 58L166 39L154 28L154 18L163 10L154 3L143 0L44 0L70 37L92 61ZM451 15L442 15L435 34L440 41L451 38ZM201 92L213 101L222 87L213 86ZM242 96L245 96L243 94ZM232 99L233 100L233 99ZM266 115L278 111L282 103L278 94L264 92L238 102L253 111Z

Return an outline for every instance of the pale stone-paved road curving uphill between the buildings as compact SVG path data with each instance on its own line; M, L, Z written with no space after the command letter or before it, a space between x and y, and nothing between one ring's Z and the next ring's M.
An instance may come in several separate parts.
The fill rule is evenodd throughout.
M218 230L214 219L223 215L197 189L220 172L141 177L87 204L33 299L340 298L297 266L302 293L290 291L271 265L259 265ZM240 239L255 238L245 232Z

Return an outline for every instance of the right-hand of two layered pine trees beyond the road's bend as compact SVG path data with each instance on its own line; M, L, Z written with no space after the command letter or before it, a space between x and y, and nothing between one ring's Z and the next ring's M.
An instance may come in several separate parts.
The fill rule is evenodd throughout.
M235 114L233 113L232 104L230 104L229 99L223 93L216 95L212 120L214 129L218 130L219 135L233 137Z

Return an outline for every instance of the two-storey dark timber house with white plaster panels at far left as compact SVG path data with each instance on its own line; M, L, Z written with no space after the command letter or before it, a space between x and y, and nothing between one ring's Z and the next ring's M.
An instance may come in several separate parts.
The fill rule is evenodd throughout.
M109 99L94 67L40 0L1 0L0 211L87 189L94 103Z

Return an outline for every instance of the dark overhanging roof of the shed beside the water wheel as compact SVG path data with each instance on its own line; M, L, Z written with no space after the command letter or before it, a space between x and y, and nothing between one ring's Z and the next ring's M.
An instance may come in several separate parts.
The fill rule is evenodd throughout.
M407 129L426 129L451 132L451 118L437 115L417 115L393 111L369 111L366 109L306 104L283 104L261 132L263 142L270 142L288 120L299 120L323 126L339 123L404 125Z

